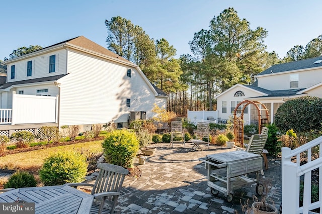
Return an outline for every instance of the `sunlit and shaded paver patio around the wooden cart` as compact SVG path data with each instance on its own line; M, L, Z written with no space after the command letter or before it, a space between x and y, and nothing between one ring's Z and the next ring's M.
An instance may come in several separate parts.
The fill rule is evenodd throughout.
M142 170L141 177L132 179L126 176L122 195L115 209L116 213L241 214L244 212L241 211L240 200L252 201L252 196L256 195L256 185L234 190L232 202L227 202L221 192L217 195L212 195L210 192L206 178L207 170L199 158L235 149L210 145L209 149L204 147L204 151L190 151L191 143L186 143L186 147L178 144L174 148L167 143L152 146L157 148L155 153L148 156L144 165L137 165ZM269 194L279 209L281 160L276 157L268 159L269 168L264 169L265 175L261 177L261 182L271 184Z

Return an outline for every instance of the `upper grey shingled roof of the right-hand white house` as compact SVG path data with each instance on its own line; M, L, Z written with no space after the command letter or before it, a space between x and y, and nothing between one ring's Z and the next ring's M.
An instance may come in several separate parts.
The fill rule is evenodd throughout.
M313 64L317 60L322 60L322 56L313 57L313 58L304 59L304 60L298 60L294 62L283 63L283 64L276 64L266 69L265 71L262 71L256 76L261 76L261 75L271 74L271 73L280 73L285 71L300 70L305 68L321 67L322 62Z

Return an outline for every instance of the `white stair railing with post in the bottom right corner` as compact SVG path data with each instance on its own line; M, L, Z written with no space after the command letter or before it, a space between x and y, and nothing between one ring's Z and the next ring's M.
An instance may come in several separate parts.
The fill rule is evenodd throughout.
M294 150L282 148L282 213L312 213L310 210L320 208L322 213L322 151L312 161L312 148L322 145L322 136ZM307 153L307 163L300 166L300 154ZM296 157L296 162L291 158ZM311 203L311 172L318 169L319 200ZM299 204L300 176L304 175L303 206ZM313 212L314 213L314 212Z

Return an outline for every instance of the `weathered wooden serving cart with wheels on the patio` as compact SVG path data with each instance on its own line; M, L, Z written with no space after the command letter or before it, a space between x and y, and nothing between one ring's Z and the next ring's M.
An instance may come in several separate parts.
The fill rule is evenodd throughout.
M263 168L262 156L245 151L232 151L207 155L199 160L205 163L208 186L213 195L224 193L228 202L232 201L235 189L257 183L256 193L262 195L263 184L259 183ZM246 174L256 172L256 178Z

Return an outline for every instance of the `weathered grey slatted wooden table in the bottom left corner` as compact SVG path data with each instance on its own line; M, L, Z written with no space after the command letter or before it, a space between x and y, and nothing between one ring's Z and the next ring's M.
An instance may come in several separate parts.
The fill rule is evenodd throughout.
M0 194L0 202L34 202L36 214L90 213L93 195L68 185L25 187Z

